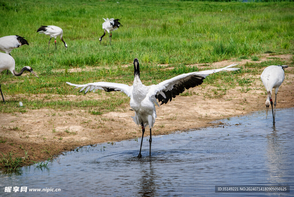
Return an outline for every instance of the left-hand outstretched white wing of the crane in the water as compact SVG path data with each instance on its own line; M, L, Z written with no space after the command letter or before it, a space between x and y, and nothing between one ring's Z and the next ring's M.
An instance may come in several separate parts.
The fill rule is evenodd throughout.
M111 91L121 91L124 92L128 97L131 96L131 90L132 86L128 86L126 84L121 84L121 83L111 83L111 82L94 82L94 83L87 83L83 85L77 85L77 84L72 84L70 82L66 82L69 85L76 86L74 89L81 87L81 91L83 91L85 88L85 94L89 91L92 90L105 90L106 92L111 92Z

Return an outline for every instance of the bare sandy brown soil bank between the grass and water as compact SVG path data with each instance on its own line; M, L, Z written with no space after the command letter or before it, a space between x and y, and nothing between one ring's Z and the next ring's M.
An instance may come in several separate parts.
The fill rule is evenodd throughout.
M292 55L277 57L289 60ZM246 61L250 60L237 63L243 65ZM213 66L222 67L230 62L232 61L216 62L213 63ZM291 67L293 68L293 65L289 65L287 69L292 69ZM260 69L261 72L262 69ZM189 89L189 91L196 93L192 96L177 96L167 105L156 107L157 118L152 135L217 126L221 123L211 122L257 110L265 112L266 95L260 75L250 77L254 80L249 86L250 90L236 87L227 90L222 98L217 98L211 96L214 87L202 85ZM285 80L280 86L277 96L277 108L294 107L293 84L294 74L285 73ZM39 97L46 97L46 95L39 95ZM98 99L99 95L93 96L90 93L80 96L81 98L76 98L74 95L56 97L55 99L79 100ZM138 128L133 122L131 116L134 115L134 112L129 109L129 105L121 106L117 112L103 115L91 115L81 109L72 111L40 109L28 110L28 112L16 115L0 114L0 140L7 139L5 143L0 143L0 151L5 155L13 151L13 153L17 153L14 156L24 157L24 150L28 150L29 160L40 161L53 158L54 155L72 150L77 146L141 138L141 128ZM271 123L269 118L268 124ZM145 132L145 135L149 135L149 132ZM143 146L145 145L143 144Z

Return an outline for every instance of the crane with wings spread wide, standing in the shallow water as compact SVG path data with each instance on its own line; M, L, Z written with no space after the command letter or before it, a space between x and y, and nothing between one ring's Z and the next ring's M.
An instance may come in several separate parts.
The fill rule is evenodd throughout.
M128 97L131 98L130 106L135 111L135 116L132 117L134 122L137 125L141 125L142 127L142 139L141 146L138 158L141 158L141 148L142 141L145 132L145 128L149 126L150 129L150 139L149 139L149 158L151 158L151 128L154 125L156 118L156 110L155 105L158 105L158 102L167 103L171 101L172 98L175 98L177 95L182 93L185 88L189 89L191 87L195 87L197 85L202 84L203 80L209 74L220 72L220 71L230 71L230 70L238 70L239 68L230 68L237 64L231 64L227 67L215 69L215 70L205 70L200 72L190 72L182 75L178 75L169 80L165 80L157 85L145 86L142 84L140 80L140 69L139 69L139 61L137 58L134 59L134 82L132 86L128 86L126 84L120 83L111 83L111 82L95 82L88 83L84 85L76 85L69 82L66 82L69 85L76 86L75 88L81 87L81 91L85 88L86 92L92 91L94 89L105 90L106 92L111 91L121 91L124 92ZM158 102L157 102L157 100ZM159 105L158 105L159 107Z

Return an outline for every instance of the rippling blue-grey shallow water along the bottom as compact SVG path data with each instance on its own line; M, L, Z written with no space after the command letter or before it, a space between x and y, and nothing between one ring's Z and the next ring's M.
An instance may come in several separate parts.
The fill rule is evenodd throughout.
M86 146L46 168L0 173L0 196L293 196L294 109L221 120L217 128ZM290 185L290 193L215 193L215 186ZM27 187L27 192L4 188ZM60 188L33 192L29 188ZM19 188L20 189L20 188Z

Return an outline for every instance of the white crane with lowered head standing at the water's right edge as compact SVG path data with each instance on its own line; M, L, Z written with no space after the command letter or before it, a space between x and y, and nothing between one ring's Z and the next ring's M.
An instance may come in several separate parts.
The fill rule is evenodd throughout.
M275 88L275 102L274 107L277 105L277 93L279 90L280 85L282 85L284 79L285 79L285 68L288 68L287 65L271 65L266 67L263 72L260 75L261 81L263 82L263 85L265 86L266 92L268 93L265 106L266 106L266 115L265 118L268 115L268 107L272 106L272 112L273 112L273 125L275 126L275 110L273 110L273 100L272 100L272 89Z

